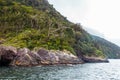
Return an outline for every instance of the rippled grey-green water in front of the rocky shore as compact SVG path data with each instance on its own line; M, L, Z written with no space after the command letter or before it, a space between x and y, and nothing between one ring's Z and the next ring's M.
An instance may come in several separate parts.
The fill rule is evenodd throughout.
M120 80L120 60L73 66L0 68L0 80Z

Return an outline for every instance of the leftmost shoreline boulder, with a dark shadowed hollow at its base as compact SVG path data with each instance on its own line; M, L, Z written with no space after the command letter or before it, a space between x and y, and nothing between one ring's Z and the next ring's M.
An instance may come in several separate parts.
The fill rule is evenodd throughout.
M9 66L16 56L16 48L11 46L0 46L0 66Z

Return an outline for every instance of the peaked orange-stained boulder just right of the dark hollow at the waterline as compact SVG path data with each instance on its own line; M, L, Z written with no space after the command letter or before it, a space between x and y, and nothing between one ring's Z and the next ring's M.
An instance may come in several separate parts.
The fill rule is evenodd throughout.
M19 49L17 57L13 61L16 66L35 66L38 65L40 57L36 52L30 51L28 48Z

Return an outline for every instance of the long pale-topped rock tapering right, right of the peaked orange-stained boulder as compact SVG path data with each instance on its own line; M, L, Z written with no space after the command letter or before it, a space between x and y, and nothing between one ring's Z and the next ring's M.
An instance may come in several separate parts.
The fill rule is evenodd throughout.
M83 61L69 51L45 50L37 52L41 57L41 64L78 64Z

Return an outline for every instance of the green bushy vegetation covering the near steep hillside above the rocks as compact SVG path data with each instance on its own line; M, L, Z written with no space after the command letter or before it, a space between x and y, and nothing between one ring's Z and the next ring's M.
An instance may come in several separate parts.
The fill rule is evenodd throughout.
M68 50L105 57L80 24L69 22L47 0L0 0L0 44L18 48ZM107 52L106 52L107 53ZM109 52L107 53L109 54Z

